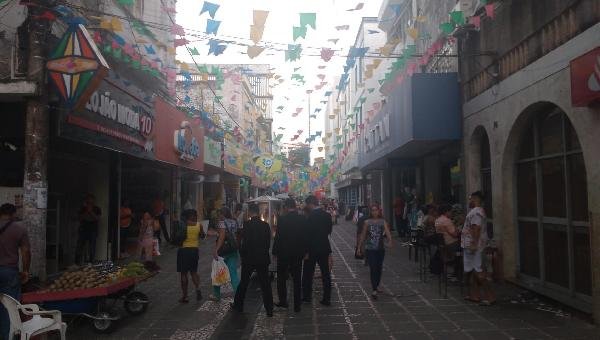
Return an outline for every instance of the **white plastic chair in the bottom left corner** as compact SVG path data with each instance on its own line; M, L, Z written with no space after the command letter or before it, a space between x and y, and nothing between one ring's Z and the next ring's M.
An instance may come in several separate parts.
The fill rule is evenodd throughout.
M19 334L21 340L29 340L32 336L56 330L60 332L61 340L65 340L67 325L62 322L60 311L42 311L38 305L34 304L22 305L6 294L0 294L0 303L8 311L10 319L9 339L14 339L15 335ZM31 316L31 319L22 322L19 312Z

